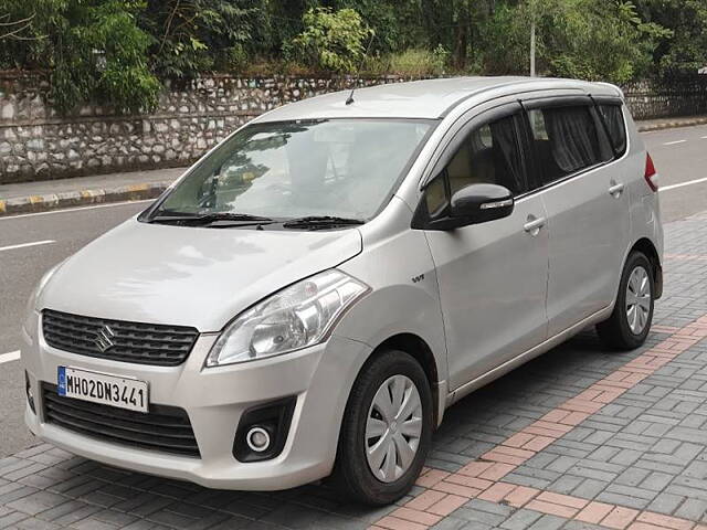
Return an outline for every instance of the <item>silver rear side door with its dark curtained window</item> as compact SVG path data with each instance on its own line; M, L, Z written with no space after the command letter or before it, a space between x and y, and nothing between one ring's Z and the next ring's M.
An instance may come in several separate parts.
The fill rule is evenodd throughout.
M590 97L524 106L548 213L552 337L612 304L630 240L629 193Z

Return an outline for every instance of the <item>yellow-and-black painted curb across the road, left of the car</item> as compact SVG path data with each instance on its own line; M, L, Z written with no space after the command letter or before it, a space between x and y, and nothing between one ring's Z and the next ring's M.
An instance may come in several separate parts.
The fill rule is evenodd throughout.
M20 213L38 213L63 208L85 206L104 202L140 201L159 197L169 182L151 182L122 186L105 190L81 190L49 195L17 197L0 199L0 218Z

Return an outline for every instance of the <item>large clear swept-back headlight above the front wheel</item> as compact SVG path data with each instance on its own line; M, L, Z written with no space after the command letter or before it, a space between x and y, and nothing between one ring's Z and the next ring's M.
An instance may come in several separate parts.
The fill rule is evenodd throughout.
M331 269L260 301L233 320L207 358L207 367L279 356L321 342L337 318L368 286Z

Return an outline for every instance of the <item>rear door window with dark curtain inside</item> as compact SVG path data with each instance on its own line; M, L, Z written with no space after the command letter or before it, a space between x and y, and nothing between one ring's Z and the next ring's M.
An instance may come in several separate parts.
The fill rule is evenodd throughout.
M532 109L528 119L544 183L611 158L588 106Z

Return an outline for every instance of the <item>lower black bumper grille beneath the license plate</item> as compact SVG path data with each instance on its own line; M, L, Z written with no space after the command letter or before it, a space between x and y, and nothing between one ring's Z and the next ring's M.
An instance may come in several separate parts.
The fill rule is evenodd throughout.
M189 416L182 409L150 405L150 412L63 398L56 385L42 383L44 421L114 444L199 458L199 446Z

